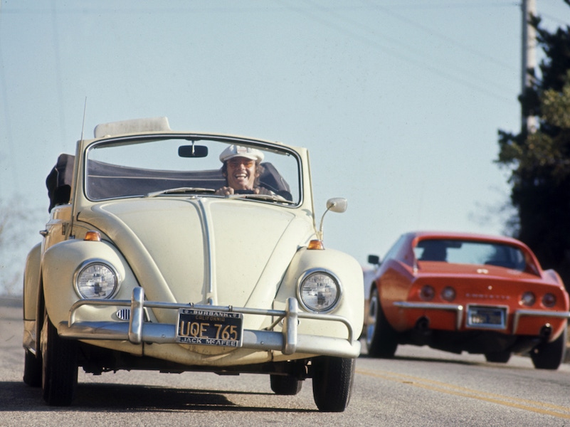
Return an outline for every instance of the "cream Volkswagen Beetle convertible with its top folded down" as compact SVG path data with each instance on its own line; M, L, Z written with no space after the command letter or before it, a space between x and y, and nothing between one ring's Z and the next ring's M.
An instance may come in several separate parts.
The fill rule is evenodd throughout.
M253 188L228 190L252 175ZM128 120L98 125L46 182L23 379L48 404L72 403L82 367L268 374L282 395L310 378L320 411L344 411L362 272L324 248L324 213L346 200L317 224L306 149Z

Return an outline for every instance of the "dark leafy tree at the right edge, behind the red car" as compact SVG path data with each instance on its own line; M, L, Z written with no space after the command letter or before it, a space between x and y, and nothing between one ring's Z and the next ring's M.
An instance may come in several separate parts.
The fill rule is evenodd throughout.
M540 22L531 19L545 58L539 75L529 70L532 85L519 96L524 115L539 117L539 126L518 135L500 130L497 162L511 169L518 216L512 234L570 289L570 26L549 33Z

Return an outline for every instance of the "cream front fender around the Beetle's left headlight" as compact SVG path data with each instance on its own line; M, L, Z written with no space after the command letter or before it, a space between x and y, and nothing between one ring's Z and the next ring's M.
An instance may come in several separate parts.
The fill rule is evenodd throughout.
M68 320L71 305L81 299L75 290L75 273L85 261L93 259L102 260L117 270L119 290L115 297L130 298L137 280L115 246L105 241L60 242L44 253L42 263L46 310L54 325Z

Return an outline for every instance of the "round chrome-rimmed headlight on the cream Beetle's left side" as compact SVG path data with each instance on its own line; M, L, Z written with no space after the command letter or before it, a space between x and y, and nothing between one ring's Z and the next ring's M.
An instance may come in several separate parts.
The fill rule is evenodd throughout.
M115 269L102 262L83 265L75 276L75 288L83 298L110 298L118 284Z

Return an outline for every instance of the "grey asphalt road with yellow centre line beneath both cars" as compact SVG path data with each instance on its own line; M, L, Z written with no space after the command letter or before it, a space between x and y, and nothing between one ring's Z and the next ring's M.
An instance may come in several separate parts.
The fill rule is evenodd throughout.
M73 406L46 406L22 382L21 301L0 298L0 426L570 426L570 364L539 371L527 357L401 346L391 360L357 360L344 413L320 413L311 381L275 396L262 375L80 371Z

